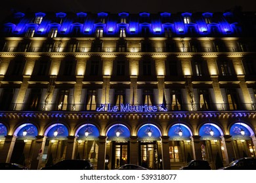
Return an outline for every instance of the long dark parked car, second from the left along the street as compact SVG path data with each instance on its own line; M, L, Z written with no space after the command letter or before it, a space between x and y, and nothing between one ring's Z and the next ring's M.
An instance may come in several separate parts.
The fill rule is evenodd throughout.
M65 159L41 170L94 170L93 163L89 159Z

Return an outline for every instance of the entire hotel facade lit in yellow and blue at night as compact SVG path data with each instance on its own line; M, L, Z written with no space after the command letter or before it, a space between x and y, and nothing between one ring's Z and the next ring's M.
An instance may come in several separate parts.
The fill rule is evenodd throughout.
M213 169L255 157L255 12L16 12L0 42L0 161Z

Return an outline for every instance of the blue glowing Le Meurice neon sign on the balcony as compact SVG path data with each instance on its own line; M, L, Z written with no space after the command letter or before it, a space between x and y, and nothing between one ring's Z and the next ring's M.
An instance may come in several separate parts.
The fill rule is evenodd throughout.
M131 105L121 104L120 106L112 104L101 104L100 107L96 108L96 111L108 111L108 112L158 112L167 111L165 105Z

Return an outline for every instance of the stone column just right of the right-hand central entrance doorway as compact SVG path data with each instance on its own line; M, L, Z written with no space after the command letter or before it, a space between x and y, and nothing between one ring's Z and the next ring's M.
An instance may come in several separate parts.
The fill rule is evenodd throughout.
M170 156L169 156L169 136L161 136L161 158L163 170L171 169Z

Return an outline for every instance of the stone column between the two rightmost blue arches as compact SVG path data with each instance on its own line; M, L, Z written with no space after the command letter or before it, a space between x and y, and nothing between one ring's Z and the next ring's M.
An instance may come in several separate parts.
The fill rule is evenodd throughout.
M231 139L231 135L223 135L221 136L221 140L223 141L226 163L229 164L232 161L232 158L236 158L236 155L234 154L234 146L232 144L233 141Z

